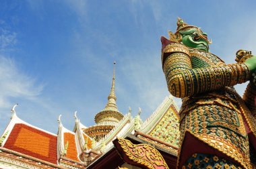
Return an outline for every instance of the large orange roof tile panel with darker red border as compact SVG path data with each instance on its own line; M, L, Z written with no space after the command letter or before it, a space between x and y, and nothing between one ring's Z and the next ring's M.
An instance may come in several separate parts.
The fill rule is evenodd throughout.
M57 164L57 136L22 123L13 126L3 147Z

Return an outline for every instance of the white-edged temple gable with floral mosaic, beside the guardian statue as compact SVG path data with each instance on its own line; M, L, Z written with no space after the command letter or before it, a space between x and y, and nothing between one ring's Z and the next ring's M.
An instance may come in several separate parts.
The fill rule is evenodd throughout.
M157 144L177 154L179 141L178 111L179 108L172 100L172 96L166 97L144 123L139 118L140 109L134 118L131 117L131 110L129 110L129 113L107 135L100 139L95 148L98 150L103 143L106 145L104 148L104 152L106 152L113 146L112 141L115 137L123 137L128 133L134 133L134 130L136 130L138 131L137 133L140 131L143 135L147 135L147 137L142 137L139 134L141 139L145 139L147 142L152 142L152 144Z

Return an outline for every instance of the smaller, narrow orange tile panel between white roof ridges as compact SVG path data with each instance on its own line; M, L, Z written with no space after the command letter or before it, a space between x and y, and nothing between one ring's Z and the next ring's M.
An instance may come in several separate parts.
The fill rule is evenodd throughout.
M77 148L75 144L75 135L73 133L64 133L64 146L69 142L66 157L71 160L79 161L77 158Z

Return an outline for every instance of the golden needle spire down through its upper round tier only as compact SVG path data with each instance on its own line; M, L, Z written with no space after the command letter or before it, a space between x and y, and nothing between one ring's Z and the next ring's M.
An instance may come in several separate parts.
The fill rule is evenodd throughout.
M122 118L122 113L117 109L117 97L115 95L115 64L113 70L113 79L110 93L108 95L108 103L105 108L95 116L95 122L98 125L116 125Z

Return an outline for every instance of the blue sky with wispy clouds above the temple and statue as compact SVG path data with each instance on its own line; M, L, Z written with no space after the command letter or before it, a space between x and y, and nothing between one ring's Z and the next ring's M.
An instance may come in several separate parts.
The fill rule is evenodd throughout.
M254 1L0 0L0 133L15 103L18 117L53 133L59 114L73 129L74 111L94 125L114 60L119 111L141 107L145 120L168 96L160 36L176 30L177 17L207 32L226 63L239 49L256 53Z

